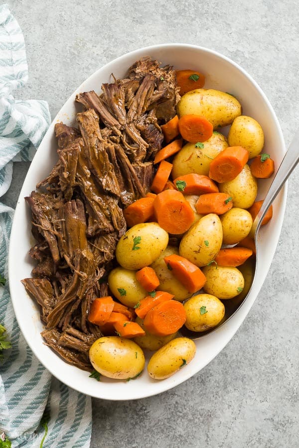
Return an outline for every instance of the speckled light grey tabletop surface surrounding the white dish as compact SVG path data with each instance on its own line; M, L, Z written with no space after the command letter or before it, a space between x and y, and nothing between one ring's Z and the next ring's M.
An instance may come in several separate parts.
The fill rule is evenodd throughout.
M18 98L52 117L106 62L156 43L186 42L234 59L272 103L287 145L299 124L299 8L292 0L7 0L25 35L29 82ZM275 4L277 3L277 4ZM28 164L15 164L13 205ZM281 239L249 316L193 378L139 401L93 401L91 446L299 447L299 168Z

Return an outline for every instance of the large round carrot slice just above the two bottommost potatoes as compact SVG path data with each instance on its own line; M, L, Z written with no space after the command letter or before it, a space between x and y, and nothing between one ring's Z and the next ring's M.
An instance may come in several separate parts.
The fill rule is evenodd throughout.
M145 317L144 327L156 336L176 333L186 322L183 305L176 300L168 300L152 308Z

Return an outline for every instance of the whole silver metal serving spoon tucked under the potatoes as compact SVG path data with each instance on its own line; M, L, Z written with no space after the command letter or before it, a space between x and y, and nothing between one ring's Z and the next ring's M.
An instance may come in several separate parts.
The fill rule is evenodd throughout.
M211 330L208 330L207 332L201 332L201 333L195 333L191 332L185 327L183 327L180 332L183 334L183 336L188 336L192 339L198 339L201 336L205 336L208 333L211 333L221 327L223 324L225 324L226 321L228 321L242 306L242 304L246 301L252 286L254 284L254 281L257 276L258 272L258 266L259 266L259 239L258 239L258 233L259 229L261 227L262 221L275 200L278 193L281 191L283 185L285 184L286 180L296 167L296 165L299 162L299 147L298 147L298 141L299 141L299 129L296 132L288 151L286 152L282 163L280 164L277 173L273 179L273 182L268 190L268 193L264 199L263 205L255 218L252 228L250 231L250 236L254 238L255 245L256 245L256 262L254 262L253 257L251 257L249 260L247 260L244 265L239 266L238 269L243 273L245 285L244 289L241 294L239 294L237 297L230 299L228 301L225 301L225 315L223 320L220 322L220 324L217 327L214 327Z

